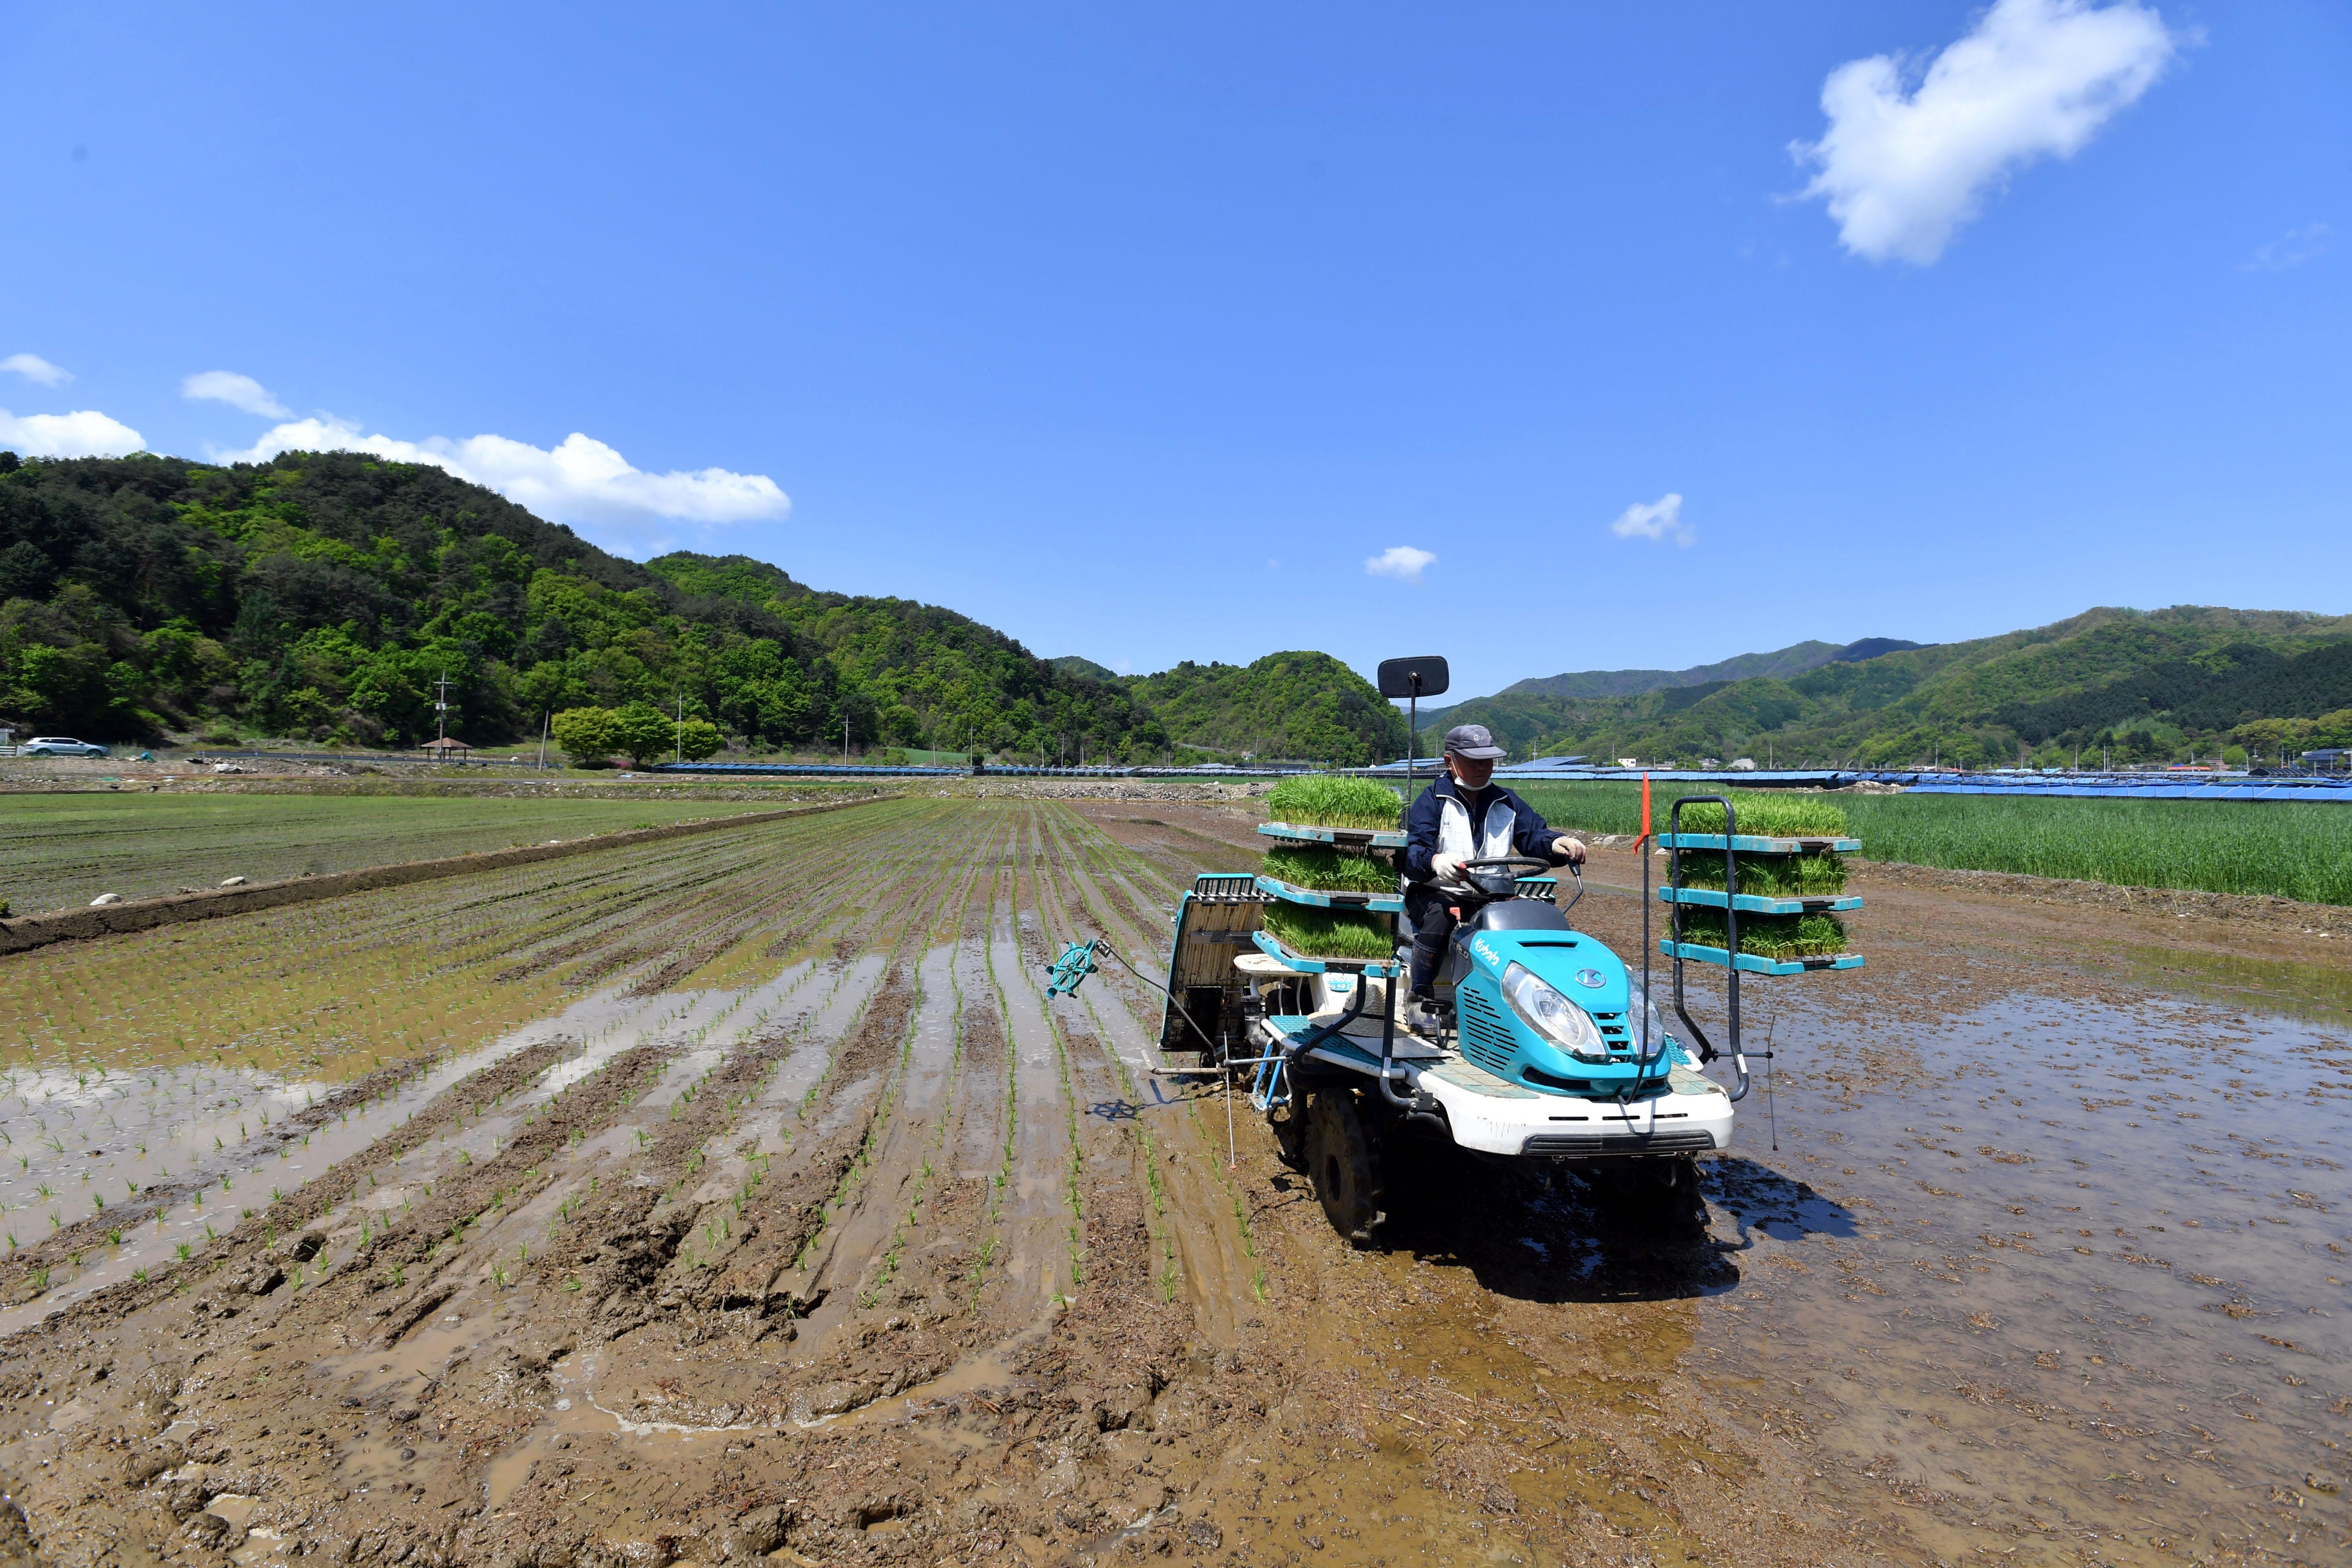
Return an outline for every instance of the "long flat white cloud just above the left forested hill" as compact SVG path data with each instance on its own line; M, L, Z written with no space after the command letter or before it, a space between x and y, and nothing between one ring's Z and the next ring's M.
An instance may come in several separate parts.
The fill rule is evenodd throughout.
M668 534L659 527L663 522L762 522L793 510L793 501L767 475L724 468L644 473L576 430L548 451L503 435L402 442L360 435L360 425L350 421L318 416L275 425L245 451L226 451L221 458L266 463L280 451L367 451L395 463L430 463L459 480L487 484L541 517L619 534L630 548L668 545Z

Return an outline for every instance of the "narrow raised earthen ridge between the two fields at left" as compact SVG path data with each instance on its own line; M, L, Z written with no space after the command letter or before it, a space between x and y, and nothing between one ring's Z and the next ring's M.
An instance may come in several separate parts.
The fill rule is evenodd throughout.
M52 943L80 943L99 936L127 936L176 926L191 919L219 919L223 914L252 914L254 910L278 910L292 903L318 903L348 893L372 893L412 882L437 882L468 872L506 870L539 860L562 860L600 849L623 849L628 844L652 844L656 839L682 839L696 832L720 832L724 827L750 827L795 816L816 816L889 799L882 792L856 799L816 802L807 806L781 806L776 811L739 811L734 816L708 816L694 823L663 823L659 827L623 827L619 832L593 832L562 844L517 844L513 849L480 849L463 856L440 856L435 860L395 860L390 865L362 865L348 872L320 872L275 877L233 889L202 889L198 893L158 893L151 898L125 898L122 903L92 905L82 910L52 910L47 914L21 914L0 919L0 957L31 952Z

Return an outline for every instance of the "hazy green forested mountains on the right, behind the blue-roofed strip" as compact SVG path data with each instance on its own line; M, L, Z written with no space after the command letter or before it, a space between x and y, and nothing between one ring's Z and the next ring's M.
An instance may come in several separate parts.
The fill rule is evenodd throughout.
M1806 644L1799 644L1806 646ZM2004 637L1849 644L1797 675L1710 679L1632 696L1550 696L1519 682L1458 703L1517 755L1646 762L1743 757L1828 764L2013 764L2079 752L2114 762L2277 757L2352 743L2352 616L2209 609L2091 609Z

